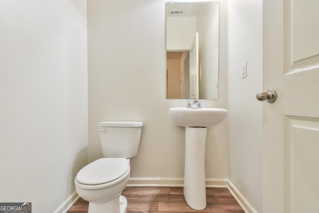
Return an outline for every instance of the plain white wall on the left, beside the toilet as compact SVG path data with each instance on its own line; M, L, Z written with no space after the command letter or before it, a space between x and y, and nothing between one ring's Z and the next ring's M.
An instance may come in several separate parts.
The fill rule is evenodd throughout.
M1 0L0 20L0 201L52 213L88 161L86 0Z

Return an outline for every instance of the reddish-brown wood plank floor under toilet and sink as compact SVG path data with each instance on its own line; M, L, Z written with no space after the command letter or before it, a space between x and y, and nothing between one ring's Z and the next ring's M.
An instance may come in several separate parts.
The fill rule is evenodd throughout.
M184 199L179 187L127 187L126 213L245 213L226 188L207 188L207 207L196 211ZM87 213L88 202L79 199L67 213Z

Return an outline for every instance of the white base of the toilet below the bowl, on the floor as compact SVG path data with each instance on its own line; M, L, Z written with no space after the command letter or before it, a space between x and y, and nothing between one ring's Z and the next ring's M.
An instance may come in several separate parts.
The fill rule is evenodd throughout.
M88 213L125 213L128 206L126 198L122 195L116 196L106 203L89 203Z

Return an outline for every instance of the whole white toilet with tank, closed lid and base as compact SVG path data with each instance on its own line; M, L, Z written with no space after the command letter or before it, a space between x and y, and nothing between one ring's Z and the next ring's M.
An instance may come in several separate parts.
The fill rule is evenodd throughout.
M103 158L83 167L75 177L77 194L89 202L88 213L124 213L122 192L130 177L130 158L137 155L143 122L99 123Z

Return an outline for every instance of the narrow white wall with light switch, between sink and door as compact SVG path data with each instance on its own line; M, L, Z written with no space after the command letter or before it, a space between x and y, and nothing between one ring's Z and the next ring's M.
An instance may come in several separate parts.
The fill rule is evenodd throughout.
M229 179L261 213L262 103L256 94L262 91L262 0L228 0L228 86Z

